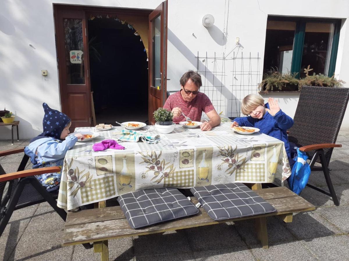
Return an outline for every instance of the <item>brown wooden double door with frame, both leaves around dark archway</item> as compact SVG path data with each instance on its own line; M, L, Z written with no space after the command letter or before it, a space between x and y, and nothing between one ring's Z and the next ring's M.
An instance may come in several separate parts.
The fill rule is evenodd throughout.
M148 116L150 124L155 124L153 112L162 107L166 100L167 7L166 0L148 17ZM76 127L87 127L92 124L86 16L91 12L115 13L121 17L126 13L136 16L144 15L148 10L130 11L54 5L60 100L62 112L72 119L71 131Z

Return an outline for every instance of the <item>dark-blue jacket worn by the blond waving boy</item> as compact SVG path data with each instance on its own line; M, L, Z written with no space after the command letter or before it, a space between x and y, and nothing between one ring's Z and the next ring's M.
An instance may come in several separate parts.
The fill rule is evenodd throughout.
M268 103L264 106L269 109ZM234 121L236 121L240 126L259 128L261 133L283 141L285 143L287 157L291 162L290 143L286 131L293 126L294 122L293 119L290 116L287 116L281 109L274 117L266 111L261 119L255 119L248 116L235 118Z

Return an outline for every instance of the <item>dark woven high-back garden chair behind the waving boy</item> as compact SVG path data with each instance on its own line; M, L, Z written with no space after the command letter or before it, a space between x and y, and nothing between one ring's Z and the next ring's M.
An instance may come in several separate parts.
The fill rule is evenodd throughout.
M303 86L294 117L295 124L289 130L289 141L309 156L311 171L323 171L328 191L311 184L308 187L331 196L336 206L339 201L329 175L329 162L342 124L349 99L349 88ZM314 166L315 162L321 166Z

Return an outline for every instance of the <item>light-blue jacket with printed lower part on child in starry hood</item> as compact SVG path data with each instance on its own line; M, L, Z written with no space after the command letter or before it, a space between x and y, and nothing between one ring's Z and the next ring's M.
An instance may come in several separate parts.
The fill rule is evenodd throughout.
M30 158L33 168L56 166L62 168L67 151L73 148L76 142L77 137L74 135L67 136L64 141L45 137L31 142L24 148L24 153ZM59 189L61 172L36 175L36 178L47 191L52 192Z

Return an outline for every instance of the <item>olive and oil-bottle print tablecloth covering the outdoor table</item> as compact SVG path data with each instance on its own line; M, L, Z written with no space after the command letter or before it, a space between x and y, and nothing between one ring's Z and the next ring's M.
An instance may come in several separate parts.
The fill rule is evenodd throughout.
M261 133L241 135L222 123L209 132L176 125L170 134L155 126L140 132L159 134L156 144L120 142L125 150L94 152L92 145L116 140L122 127L96 130L99 136L77 142L64 160L57 205L73 209L148 188L191 188L230 182L282 182L291 174L284 143Z

